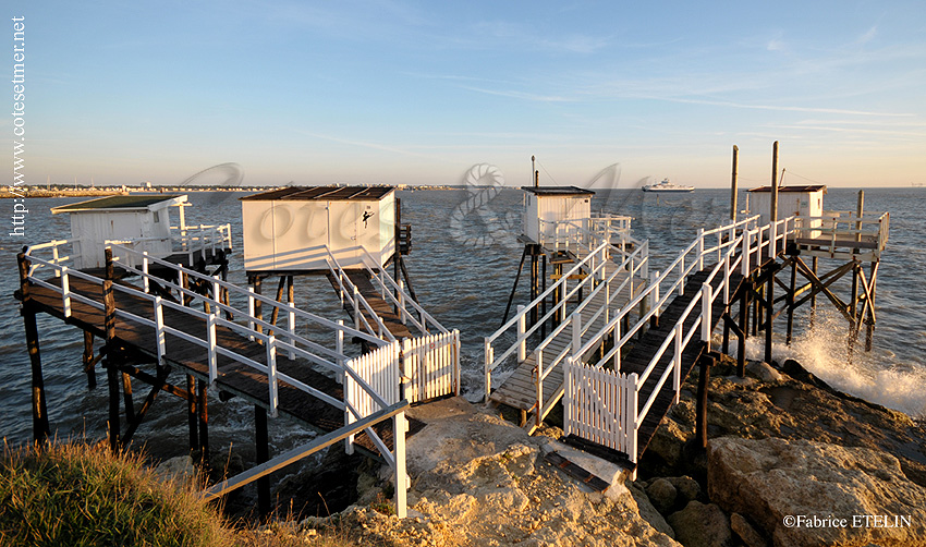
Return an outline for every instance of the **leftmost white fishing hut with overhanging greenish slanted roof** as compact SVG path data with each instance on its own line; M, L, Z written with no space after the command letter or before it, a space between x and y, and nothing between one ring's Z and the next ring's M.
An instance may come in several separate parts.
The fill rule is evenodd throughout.
M106 264L107 242L133 242L136 251L156 258L171 255L169 207L180 209L183 224L185 195L108 196L52 207L52 215L66 212L77 268L99 268Z

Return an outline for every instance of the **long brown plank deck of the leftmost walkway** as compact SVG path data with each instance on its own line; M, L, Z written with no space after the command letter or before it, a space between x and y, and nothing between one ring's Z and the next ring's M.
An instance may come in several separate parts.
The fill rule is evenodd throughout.
M52 279L48 282L60 284L60 279ZM117 283L127 285L123 281L117 281ZM132 287L138 291L137 287ZM100 304L102 303L102 287L100 284L72 276L70 278L70 289L72 292L100 302ZM151 320L154 319L154 306L150 301L142 296L141 291L139 294L132 294L125 291L114 290L113 293L117 309ZM20 291L16 291L15 296L17 300L22 300ZM34 306L36 312L47 313L84 331L90 332L95 337L106 338L102 309L97 309L72 299L71 317L65 318L62 311L61 294L51 289L35 284L29 287L29 302L27 305ZM167 326L183 332L195 333L194 336L197 338L206 339L207 327L205 320L168 306L163 306L162 309ZM218 345L258 363L266 362L266 349L257 341L248 340L246 337L224 327L217 327L216 335ZM115 343L127 350L147 355L153 362L157 360L155 330L145 325L117 318ZM203 347L167 335L163 362L172 369L182 369L202 381L208 382L207 353L207 350ZM242 397L255 405L269 409L269 386L265 373L224 355L218 356L217 364L218 378L216 386L220 391ZM310 364L303 360L290 360L287 357L285 352L278 352L277 369L334 399L343 399L341 385L334 379L314 370ZM280 414L293 417L303 424L326 433L344 426L344 412L342 410L336 409L285 381L280 380L278 382L278 412ZM409 434L411 435L421 430L423 426L419 422L410 421ZM382 423L374 427L374 429L391 449L391 424ZM378 453L375 445L365 434L358 435L355 442L370 453Z

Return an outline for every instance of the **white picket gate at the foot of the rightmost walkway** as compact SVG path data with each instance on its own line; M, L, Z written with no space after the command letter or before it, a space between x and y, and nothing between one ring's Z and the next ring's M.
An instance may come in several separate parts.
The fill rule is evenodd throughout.
M636 375L625 376L568 360L563 393L566 435L575 435L602 447L630 453L635 443Z

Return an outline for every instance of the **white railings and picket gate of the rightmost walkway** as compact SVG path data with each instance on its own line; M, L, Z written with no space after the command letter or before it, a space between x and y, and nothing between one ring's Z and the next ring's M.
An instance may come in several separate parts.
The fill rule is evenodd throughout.
M643 421L670 378L674 401L678 402L682 380L682 352L696 336L700 341L709 343L714 328L714 307L726 307L730 303L731 276L738 271L744 276L750 275L764 256L775 256L783 251L785 239L794 233L793 217L763 227L757 226L757 219L756 216L714 230L698 230L695 241L683 250L663 272L657 272L644 291L614 314L588 342L577 351L572 351L566 361L563 400L566 435L576 435L602 443L626 453L632 462L637 461L637 433ZM620 355L624 344L648 325L653 316L658 316L677 292L684 294L685 281L692 270L704 270L705 260L715 258L717 262L702 283L700 290L671 326L670 333L646 368L639 374L622 373ZM715 287L718 278L720 282ZM660 287L666 284L668 287L665 287L667 290L663 292ZM655 304L626 332L620 332L622 320L631 309L644 302L644 299ZM696 318L685 329L685 323L691 317ZM611 333L616 340L613 348L595 363L582 363L582 358L594 348L596 340ZM642 401L647 380L667 352L671 352L671 364L655 379L649 397ZM602 370L610 363L613 363L613 373L604 374ZM596 389L602 391L596 392ZM611 414L607 414L608 412Z

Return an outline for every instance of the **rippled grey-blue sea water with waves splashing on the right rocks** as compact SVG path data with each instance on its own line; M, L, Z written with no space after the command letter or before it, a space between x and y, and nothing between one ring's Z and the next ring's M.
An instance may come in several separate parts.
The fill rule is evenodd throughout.
M442 325L462 336L462 384L471 400L484 389L483 339L502 323L523 251L517 242L523 209L522 192L504 189L483 192L403 191L402 221L412 224L412 254L406 258L410 277L422 304ZM856 192L831 189L825 198L828 210L854 210ZM244 283L241 254L241 204L244 193L191 193L193 207L187 223L231 222L236 248L230 280ZM0 250L0 435L10 443L32 437L29 358L19 304L15 253L23 243L41 243L70 236L69 219L51 215L49 208L78 198L32 198L26 221L26 240L3 239ZM795 358L837 389L869 401L926 416L926 294L921 291L926 269L926 222L921 214L926 189L866 190L866 210L890 211L891 232L878 272L874 349L862 343L851 358L845 342L848 324L825 297L817 299L813 327L805 305L795 316L795 338L790 345L776 333L773 357ZM650 242L650 271L668 265L687 246L699 227L712 228L729 219L729 191L698 190L691 194L660 195L638 190L598 192L593 210L633 217L634 235ZM745 204L740 196L740 207ZM821 271L826 271L821 263ZM866 274L868 267L866 266ZM528 300L527 275L515 291L515 304ZM800 279L800 277L799 277ZM844 283L843 283L844 285ZM837 291L844 292L838 283ZM333 291L322 277L296 278L296 305L331 319L346 319ZM81 372L83 337L78 329L45 314L38 316L42 369L49 422L59 438L102 438L108 414L105 374L97 372L99 386L87 387ZM783 332L783 323L777 326ZM747 356L763 354L760 340L751 338ZM735 345L735 344L733 344ZM499 370L496 379L509 370ZM178 379L180 378L180 379ZM182 382L174 373L172 381ZM148 387L135 382L136 404ZM211 396L210 396L211 399ZM252 446L253 406L239 399L210 402L209 436L214 447ZM124 427L124 426L123 426ZM185 404L161 393L136 433L156 457L185 453L187 446ZM271 449L285 450L312 438L315 433L285 418L271 423Z

